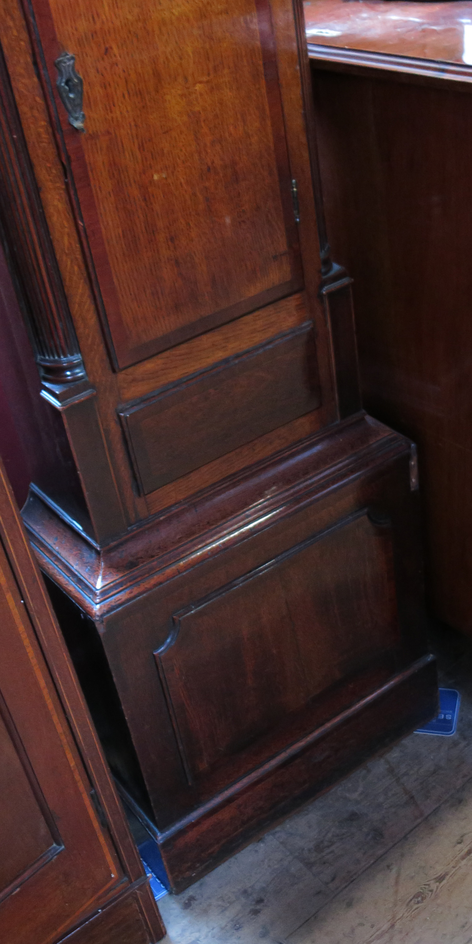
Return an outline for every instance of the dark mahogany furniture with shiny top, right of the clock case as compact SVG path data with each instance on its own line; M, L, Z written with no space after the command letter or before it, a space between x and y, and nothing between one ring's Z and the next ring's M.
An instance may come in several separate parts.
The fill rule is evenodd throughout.
M363 402L418 445L430 611L470 633L472 4L305 9L329 241L355 280ZM339 35L312 45L324 28Z

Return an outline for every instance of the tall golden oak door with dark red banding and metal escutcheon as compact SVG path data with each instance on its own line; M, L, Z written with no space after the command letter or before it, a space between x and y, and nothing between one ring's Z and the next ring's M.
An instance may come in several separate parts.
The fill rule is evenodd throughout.
M84 81L86 134L57 104L118 365L294 292L269 0L34 6Z

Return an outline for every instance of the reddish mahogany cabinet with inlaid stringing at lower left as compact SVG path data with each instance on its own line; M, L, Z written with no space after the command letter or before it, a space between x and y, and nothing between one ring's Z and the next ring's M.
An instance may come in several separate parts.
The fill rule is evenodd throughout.
M164 935L0 463L0 928L8 944Z

